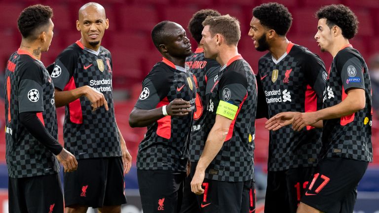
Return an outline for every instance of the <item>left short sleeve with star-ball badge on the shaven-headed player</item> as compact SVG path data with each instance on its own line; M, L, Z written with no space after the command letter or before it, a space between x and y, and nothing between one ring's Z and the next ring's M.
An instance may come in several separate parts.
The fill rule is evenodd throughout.
M65 50L57 57L54 69L50 74L56 88L60 90L65 88L74 73L75 63L73 51Z

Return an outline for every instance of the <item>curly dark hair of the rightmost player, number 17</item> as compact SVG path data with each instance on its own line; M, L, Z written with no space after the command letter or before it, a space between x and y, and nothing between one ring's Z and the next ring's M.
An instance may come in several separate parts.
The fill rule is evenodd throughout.
M316 16L318 19L325 18L329 28L337 25L341 28L342 36L347 39L353 38L358 33L358 19L345 5L331 4L321 7L316 12Z

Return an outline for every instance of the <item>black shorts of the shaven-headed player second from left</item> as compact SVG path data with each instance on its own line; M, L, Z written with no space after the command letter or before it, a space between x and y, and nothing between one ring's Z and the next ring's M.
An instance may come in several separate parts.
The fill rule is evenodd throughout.
M66 207L92 208L126 203L121 157L77 160L77 170L64 174Z

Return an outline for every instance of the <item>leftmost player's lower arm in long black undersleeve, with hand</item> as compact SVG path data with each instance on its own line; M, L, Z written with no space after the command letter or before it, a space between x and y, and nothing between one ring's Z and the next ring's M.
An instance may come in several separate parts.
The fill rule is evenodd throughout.
M38 119L37 112L20 113L20 122L33 137L57 156L57 159L63 164L65 172L73 172L76 170L77 161L75 156L63 148L62 145L47 132L46 128Z

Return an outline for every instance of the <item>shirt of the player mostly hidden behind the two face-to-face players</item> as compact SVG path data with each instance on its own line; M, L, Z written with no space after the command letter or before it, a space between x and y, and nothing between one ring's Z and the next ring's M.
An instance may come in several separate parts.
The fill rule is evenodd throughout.
M197 162L207 139L204 131L205 110L208 105L207 95L216 82L220 64L214 59L205 59L202 49L197 49L186 59L186 70L193 73L196 85L196 107L193 115L191 139L189 143L189 160Z

